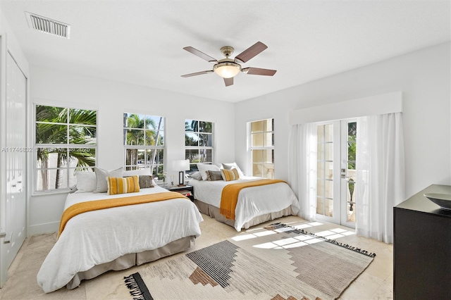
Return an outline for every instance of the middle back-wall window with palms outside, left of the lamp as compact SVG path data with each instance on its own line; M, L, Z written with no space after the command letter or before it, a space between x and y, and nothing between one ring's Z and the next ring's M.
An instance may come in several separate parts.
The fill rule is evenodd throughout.
M125 170L150 168L152 175L162 177L165 118L124 113L123 119Z

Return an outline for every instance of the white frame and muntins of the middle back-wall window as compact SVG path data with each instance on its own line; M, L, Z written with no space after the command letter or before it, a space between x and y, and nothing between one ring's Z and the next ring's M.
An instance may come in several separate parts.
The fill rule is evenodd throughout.
M139 115L143 117L144 120L144 124L142 128L137 128L137 127L125 127L125 114L127 114L128 116L130 115ZM126 139L124 138L124 134L125 134L125 130L142 130L143 131L143 137L144 137L144 141L145 136L146 136L146 131L149 130L148 128L146 128L146 120L147 118L162 118L162 123L163 123L163 130L158 129L154 129L158 132L163 132L163 135L159 135L159 137L162 137L159 140L163 141L163 145L146 145L144 142L144 145L128 145L126 144ZM166 117L162 116L162 115L151 115L149 113L123 113L123 146L124 146L124 152L123 152L123 168L124 170L143 170L143 169L147 169L149 168L151 170L151 175L154 176L158 176L158 174L163 174L164 172L166 172ZM158 140L156 142L156 144L159 144ZM140 168L140 164L127 164L127 151L129 149L137 149L138 151L140 150L144 150L144 168ZM149 150L154 150L154 151L162 151L163 152L163 163L153 163L151 165L147 164L147 151ZM159 172L161 167L161 172Z

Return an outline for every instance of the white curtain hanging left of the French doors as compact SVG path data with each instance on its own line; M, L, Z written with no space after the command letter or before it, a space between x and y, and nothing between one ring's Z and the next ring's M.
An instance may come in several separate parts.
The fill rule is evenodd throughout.
M316 124L292 125L288 145L290 185L299 199L299 216L316 220Z

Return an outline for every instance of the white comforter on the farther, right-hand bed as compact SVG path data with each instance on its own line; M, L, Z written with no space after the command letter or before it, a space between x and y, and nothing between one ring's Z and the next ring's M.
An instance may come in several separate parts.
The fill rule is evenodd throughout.
M236 182L260 179L258 177L244 177L235 181L192 179L190 185L194 187L194 199L219 208L223 187ZM259 215L281 211L289 206L292 208L292 213L299 213L299 201L286 183L280 182L242 189L238 194L237 207L235 208L235 230L241 231L245 223Z

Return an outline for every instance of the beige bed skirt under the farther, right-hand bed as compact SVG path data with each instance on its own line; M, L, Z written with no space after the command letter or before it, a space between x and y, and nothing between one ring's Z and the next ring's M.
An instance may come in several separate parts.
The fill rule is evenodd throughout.
M197 208L199 208L199 211L201 213L204 213L205 215L209 215L211 218L215 218L218 222L225 223L227 225L235 227L235 220L230 220L230 219L226 218L224 215L221 215L221 213L219 213L218 207L213 206L211 204L206 204L205 202L199 201L197 199L194 199L194 204L196 204ZM253 218L252 220L247 221L242 226L242 229L248 229L251 226L259 225L266 221L274 220L277 218L282 218L282 217L285 217L286 215L292 215L292 214L293 213L292 213L291 206L288 206L288 208L285 208L281 211L276 211L274 213L266 213L264 215L258 215L257 217Z

